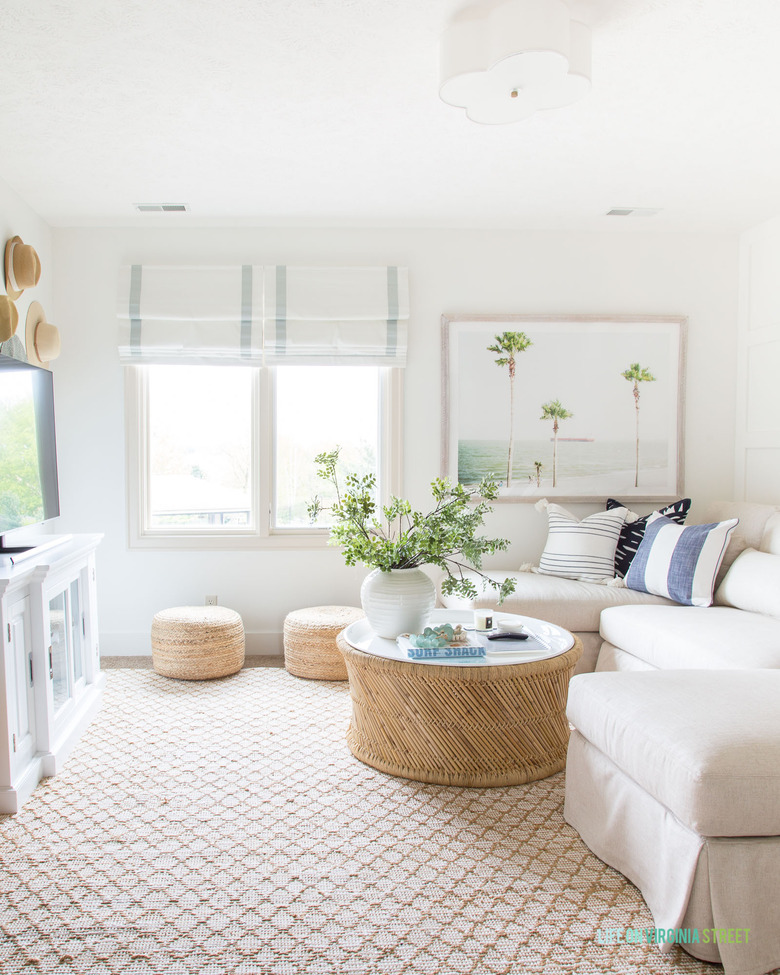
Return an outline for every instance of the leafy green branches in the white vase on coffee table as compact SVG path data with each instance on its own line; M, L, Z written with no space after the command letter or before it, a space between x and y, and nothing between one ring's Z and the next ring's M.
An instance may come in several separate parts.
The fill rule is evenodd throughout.
M482 571L482 558L504 551L505 538L477 535L492 508L488 504L498 495L492 476L483 478L469 491L462 484L452 485L444 478L431 483L434 507L426 512L413 511L408 501L392 497L380 508L375 500L376 478L373 474L359 477L347 474L342 490L338 476L339 448L314 458L317 476L336 491L334 504L324 507L318 497L308 505L309 517L315 522L322 511L334 518L330 540L341 545L347 565L358 562L389 572L391 569L416 569L435 565L447 578L442 591L466 598L479 596L473 579L464 574L475 571L483 584L492 586L501 603L515 589L514 579L503 583L490 579ZM474 500L479 499L476 503Z

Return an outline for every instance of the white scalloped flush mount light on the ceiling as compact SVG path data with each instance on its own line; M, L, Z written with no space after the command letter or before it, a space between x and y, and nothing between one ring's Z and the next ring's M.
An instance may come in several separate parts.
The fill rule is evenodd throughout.
M475 4L442 35L439 95L474 122L519 122L589 88L590 28L563 0Z

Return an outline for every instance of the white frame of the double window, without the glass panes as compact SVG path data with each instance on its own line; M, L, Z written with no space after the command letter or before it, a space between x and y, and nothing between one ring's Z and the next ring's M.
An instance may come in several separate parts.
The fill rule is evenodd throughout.
M125 457L128 545L133 549L242 550L321 549L328 543L327 528L272 528L275 482L275 370L253 369L252 384L252 506L256 524L251 528L148 527L149 385L148 367L126 365ZM327 366L323 366L327 368ZM403 369L381 369L379 387L379 484L381 501L401 492L403 429ZM335 444L323 444L323 450Z

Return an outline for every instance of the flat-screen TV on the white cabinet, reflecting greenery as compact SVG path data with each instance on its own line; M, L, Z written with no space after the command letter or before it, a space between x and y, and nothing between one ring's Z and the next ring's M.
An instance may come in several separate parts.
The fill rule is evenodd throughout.
M52 374L0 356L0 535L59 513Z

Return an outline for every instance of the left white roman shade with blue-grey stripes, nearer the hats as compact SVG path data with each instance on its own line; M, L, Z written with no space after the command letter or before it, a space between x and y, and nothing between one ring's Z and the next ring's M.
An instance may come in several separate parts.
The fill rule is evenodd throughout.
M133 264L119 274L126 363L247 363L263 354L261 267Z

